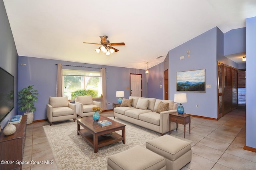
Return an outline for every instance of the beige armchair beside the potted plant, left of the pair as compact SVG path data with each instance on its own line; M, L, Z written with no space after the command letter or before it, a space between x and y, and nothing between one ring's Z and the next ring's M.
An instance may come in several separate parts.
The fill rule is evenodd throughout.
M49 97L46 104L47 118L52 122L73 119L76 121L76 105L68 102L68 97Z

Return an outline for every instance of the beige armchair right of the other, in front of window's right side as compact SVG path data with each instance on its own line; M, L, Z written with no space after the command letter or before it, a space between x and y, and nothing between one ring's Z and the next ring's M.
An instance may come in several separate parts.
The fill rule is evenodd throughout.
M77 96L75 104L76 115L80 117L92 116L94 113L92 107L101 106L100 102L92 100L92 96Z

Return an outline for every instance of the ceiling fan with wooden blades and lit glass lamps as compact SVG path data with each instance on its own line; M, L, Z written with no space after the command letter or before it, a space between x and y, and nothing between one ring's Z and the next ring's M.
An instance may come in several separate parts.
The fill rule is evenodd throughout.
M104 35L104 36L100 36L100 43L87 43L87 42L84 42L86 44L96 44L96 45L102 45L100 46L98 49L96 49L95 51L97 53L100 52L100 50L103 52L103 53L106 53L106 55L110 55L111 53L114 53L114 52L118 52L119 50L114 48L114 47L111 47L111 46L115 46L115 45L125 45L125 43L110 43L108 40L107 40L108 36Z

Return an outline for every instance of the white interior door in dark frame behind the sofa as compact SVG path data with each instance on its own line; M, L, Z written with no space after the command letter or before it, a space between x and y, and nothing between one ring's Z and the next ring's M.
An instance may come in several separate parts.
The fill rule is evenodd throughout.
M130 74L130 96L142 97L142 74Z

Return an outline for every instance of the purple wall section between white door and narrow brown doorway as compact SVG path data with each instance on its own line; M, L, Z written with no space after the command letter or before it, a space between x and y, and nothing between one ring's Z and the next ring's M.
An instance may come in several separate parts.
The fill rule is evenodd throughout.
M164 62L151 67L148 73L148 98L163 99ZM160 88L162 85L162 88Z

